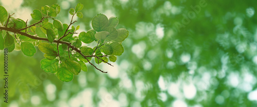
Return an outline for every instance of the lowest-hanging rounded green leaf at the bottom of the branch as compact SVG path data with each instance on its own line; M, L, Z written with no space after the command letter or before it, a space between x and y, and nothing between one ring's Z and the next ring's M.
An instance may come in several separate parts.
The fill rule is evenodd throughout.
M70 73L65 67L60 67L56 73L56 76L59 80L64 82L69 82L74 78L74 75Z

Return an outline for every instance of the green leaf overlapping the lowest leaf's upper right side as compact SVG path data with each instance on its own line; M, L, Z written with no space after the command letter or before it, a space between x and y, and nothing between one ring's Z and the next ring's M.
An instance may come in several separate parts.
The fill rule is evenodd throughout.
M81 65L74 60L66 60L64 67L66 67L69 72L75 75L78 75L81 70Z

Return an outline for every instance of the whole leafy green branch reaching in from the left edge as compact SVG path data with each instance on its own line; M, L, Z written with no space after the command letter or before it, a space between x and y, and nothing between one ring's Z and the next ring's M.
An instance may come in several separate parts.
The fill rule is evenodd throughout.
M46 5L41 10L33 10L30 15L38 22L27 25L25 21L8 15L6 9L0 6L0 49L8 48L9 52L22 50L25 56L32 57L36 53L35 46L38 46L45 53L45 59L40 62L41 68L65 82L71 81L81 70L87 72L87 62L103 72L90 60L94 58L97 64L104 62L112 65L108 61L115 62L117 56L122 55L124 48L121 43L127 38L128 31L125 28L116 29L119 23L117 17L108 19L104 14L97 14L91 23L93 29L80 32L79 37L76 37L73 34L78 33L76 31L80 26L72 26L77 22L73 18L75 15L83 18L83 13L80 12L82 9L81 3L75 9L71 8L71 21L63 24L55 18L60 13L60 6ZM40 28L46 37L38 37L36 28ZM82 42L96 42L97 46L82 46Z

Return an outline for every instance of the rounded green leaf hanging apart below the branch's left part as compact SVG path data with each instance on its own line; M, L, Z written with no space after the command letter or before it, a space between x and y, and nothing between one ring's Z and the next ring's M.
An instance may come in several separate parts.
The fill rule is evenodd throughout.
M34 45L29 42L22 42L21 49L24 55L29 57L34 56L34 53L36 52Z

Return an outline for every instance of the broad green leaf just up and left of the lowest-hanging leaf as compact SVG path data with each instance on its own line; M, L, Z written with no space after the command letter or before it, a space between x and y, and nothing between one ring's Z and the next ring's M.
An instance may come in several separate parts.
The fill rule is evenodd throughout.
M40 61L40 64L41 64L41 68L46 73L56 73L59 68L58 59L54 59L54 60L43 59Z

